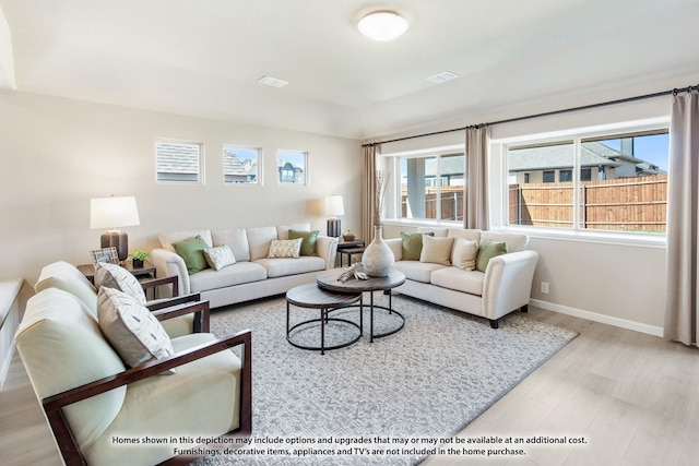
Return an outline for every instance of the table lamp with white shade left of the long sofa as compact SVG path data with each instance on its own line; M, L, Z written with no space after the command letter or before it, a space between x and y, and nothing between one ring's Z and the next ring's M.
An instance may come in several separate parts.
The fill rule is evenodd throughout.
M119 261L129 255L129 237L118 229L140 225L139 210L135 206L135 198L97 198L90 200L90 228L109 228L99 237L102 248L115 247Z

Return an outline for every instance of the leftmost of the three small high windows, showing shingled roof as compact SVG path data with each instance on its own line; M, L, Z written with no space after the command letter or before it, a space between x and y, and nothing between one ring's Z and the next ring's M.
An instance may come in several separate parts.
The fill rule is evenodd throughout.
M157 141L155 171L157 181L203 183L202 143Z

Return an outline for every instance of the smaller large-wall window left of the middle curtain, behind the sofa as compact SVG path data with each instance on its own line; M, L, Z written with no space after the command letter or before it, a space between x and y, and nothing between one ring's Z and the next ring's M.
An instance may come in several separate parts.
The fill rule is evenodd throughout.
M464 155L400 157L400 218L463 219Z

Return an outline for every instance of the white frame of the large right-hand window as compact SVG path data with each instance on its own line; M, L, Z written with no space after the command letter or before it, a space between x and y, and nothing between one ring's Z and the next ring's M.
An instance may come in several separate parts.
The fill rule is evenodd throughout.
M664 248L666 247L667 232L651 232L651 231L625 231L625 230L602 230L581 228L579 226L579 199L578 193L580 191L581 169L579 167L579 154L578 148L574 148L573 160L573 180L574 180L574 227L572 228L552 228L530 225L510 225L509 224L509 165L508 165L508 150L511 146L531 146L531 145L546 145L564 143L566 141L574 141L582 144L590 140L604 141L605 139L615 139L624 134L633 134L635 136L642 136L645 134L652 134L656 132L670 133L670 118L661 117L653 118L643 121L628 121L616 124L607 124L593 128L571 129L566 131L557 131L555 133L540 133L535 135L520 135L514 138L502 138L491 140L491 152L499 154L500 164L500 180L498 189L501 193L497 198L500 199L498 204L500 205L499 214L493 213L494 228L502 231L517 231L524 232L531 238L541 239L558 239L558 240L574 240L587 242L599 242L604 244L619 244L619 246L640 246L650 248ZM668 154L670 156L670 154ZM578 177L576 177L578 174ZM670 177L670 172L667 175Z

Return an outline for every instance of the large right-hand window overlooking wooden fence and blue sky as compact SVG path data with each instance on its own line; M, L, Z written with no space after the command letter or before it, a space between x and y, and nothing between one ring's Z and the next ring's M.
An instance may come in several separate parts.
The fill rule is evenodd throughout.
M666 129L509 146L508 224L664 232L667 159Z

